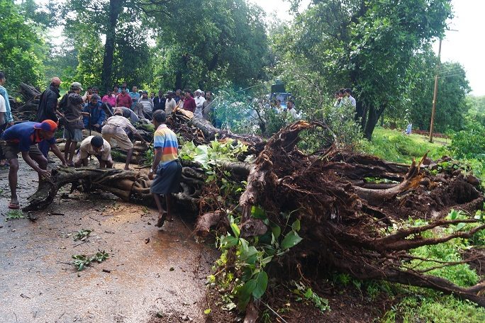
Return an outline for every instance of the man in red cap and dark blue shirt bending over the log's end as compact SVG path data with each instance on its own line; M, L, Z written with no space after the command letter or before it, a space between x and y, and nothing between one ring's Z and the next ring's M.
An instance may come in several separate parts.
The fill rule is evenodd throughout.
M9 186L11 201L9 208L18 209L17 198L17 154L22 153L23 160L39 174L39 183L44 176L50 176L47 170L48 161L40 152L37 144L44 140L50 145L52 152L66 165L62 152L55 145L54 133L57 123L52 120L44 120L42 123L25 122L11 126L1 135L1 148L4 150L6 159L9 161Z

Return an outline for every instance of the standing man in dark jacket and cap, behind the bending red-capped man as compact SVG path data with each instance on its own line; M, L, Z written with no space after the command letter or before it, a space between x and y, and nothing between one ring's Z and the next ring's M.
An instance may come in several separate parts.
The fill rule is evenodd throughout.
M52 120L57 123L57 100L60 98L59 86L61 80L58 77L52 77L50 85L42 94L40 94L39 108L37 113L37 122L41 123L44 120ZM45 158L48 158L50 145L45 140L39 142L39 149Z

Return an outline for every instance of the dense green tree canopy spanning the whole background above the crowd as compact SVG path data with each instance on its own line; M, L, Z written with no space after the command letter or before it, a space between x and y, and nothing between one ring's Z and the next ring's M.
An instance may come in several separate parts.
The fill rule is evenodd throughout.
M295 8L301 1L291 1ZM235 89L281 78L307 118L333 115L333 91L355 91L370 138L379 117L428 130L437 57L430 47L452 16L448 0L311 1L267 26L246 0L2 0L0 69L7 84L126 81L143 89ZM297 11L295 11L297 12ZM276 22L278 22L276 20ZM49 43L63 28L61 46ZM469 86L442 64L435 129L461 130Z

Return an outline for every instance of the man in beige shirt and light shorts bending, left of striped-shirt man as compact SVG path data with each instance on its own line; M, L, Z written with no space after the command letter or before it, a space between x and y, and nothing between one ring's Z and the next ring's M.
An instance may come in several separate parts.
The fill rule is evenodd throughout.
M128 138L128 133L133 133L135 137L140 139L145 145L148 143L143 139L143 137L136 131L135 127L130 123L130 120L123 117L123 112L121 110L116 110L113 117L106 120L106 124L101 130L103 139L110 142L111 139L116 140L118 146L126 151L126 164L125 170L128 171L131 156L133 155L133 143Z

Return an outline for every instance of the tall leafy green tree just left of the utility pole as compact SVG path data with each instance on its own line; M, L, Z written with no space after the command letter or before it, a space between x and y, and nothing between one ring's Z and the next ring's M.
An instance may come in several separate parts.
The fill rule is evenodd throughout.
M292 1L294 5L301 1ZM303 67L355 89L364 137L403 99L415 55L445 30L450 0L313 0L296 18L289 51Z

